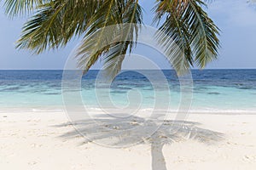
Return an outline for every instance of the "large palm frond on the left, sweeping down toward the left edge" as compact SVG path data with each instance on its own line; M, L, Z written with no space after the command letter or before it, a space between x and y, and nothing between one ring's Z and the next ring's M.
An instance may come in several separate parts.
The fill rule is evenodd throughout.
M98 5L97 1L76 0L44 3L23 26L17 48L40 54L65 46L73 36L84 33Z

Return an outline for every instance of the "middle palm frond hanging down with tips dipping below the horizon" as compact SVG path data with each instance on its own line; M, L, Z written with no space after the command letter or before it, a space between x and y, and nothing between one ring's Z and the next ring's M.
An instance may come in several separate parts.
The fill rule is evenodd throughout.
M105 8L108 11L103 10ZM108 76L113 78L120 71L127 50L131 52L137 39L139 27L136 24L142 23L142 9L135 0L106 0L98 14L91 20L90 29L78 49L79 67L85 73L101 58ZM125 23L127 25L123 25Z

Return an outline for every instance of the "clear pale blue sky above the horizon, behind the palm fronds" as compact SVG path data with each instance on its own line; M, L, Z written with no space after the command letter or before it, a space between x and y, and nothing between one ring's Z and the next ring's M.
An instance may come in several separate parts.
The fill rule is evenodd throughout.
M153 17L150 9L154 0L140 2L145 10L144 23L150 25ZM14 43L19 38L26 19L10 20L3 13L3 2L0 4L0 69L63 69L68 55L79 41L73 40L66 48L40 55L32 55L26 50L18 51ZM207 68L256 68L256 8L249 5L247 0L215 0L208 5L207 12L222 31L222 48L219 50L218 60ZM143 46L139 45L134 53L148 56L161 68L169 68L163 56L145 50ZM100 64L94 66L96 69L99 67Z

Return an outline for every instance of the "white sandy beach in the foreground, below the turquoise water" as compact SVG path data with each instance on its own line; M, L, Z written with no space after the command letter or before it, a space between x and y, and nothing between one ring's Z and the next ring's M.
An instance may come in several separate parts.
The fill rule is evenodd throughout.
M84 131L97 133L96 142L112 144L113 133L101 136L90 126ZM114 149L81 137L63 112L3 112L0 169L256 169L256 115L190 114L184 128L170 137L168 126L175 127L165 122L154 138ZM139 138L145 132L137 133Z

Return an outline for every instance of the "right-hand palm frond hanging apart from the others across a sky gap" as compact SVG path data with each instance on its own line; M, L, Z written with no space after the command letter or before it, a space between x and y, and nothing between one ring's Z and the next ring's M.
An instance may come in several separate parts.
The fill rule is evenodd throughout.
M154 8L154 22L160 23L166 17L156 37L178 74L194 64L204 68L217 58L219 30L202 6L206 4L201 0L169 0L158 1ZM166 36L170 39L166 40Z

